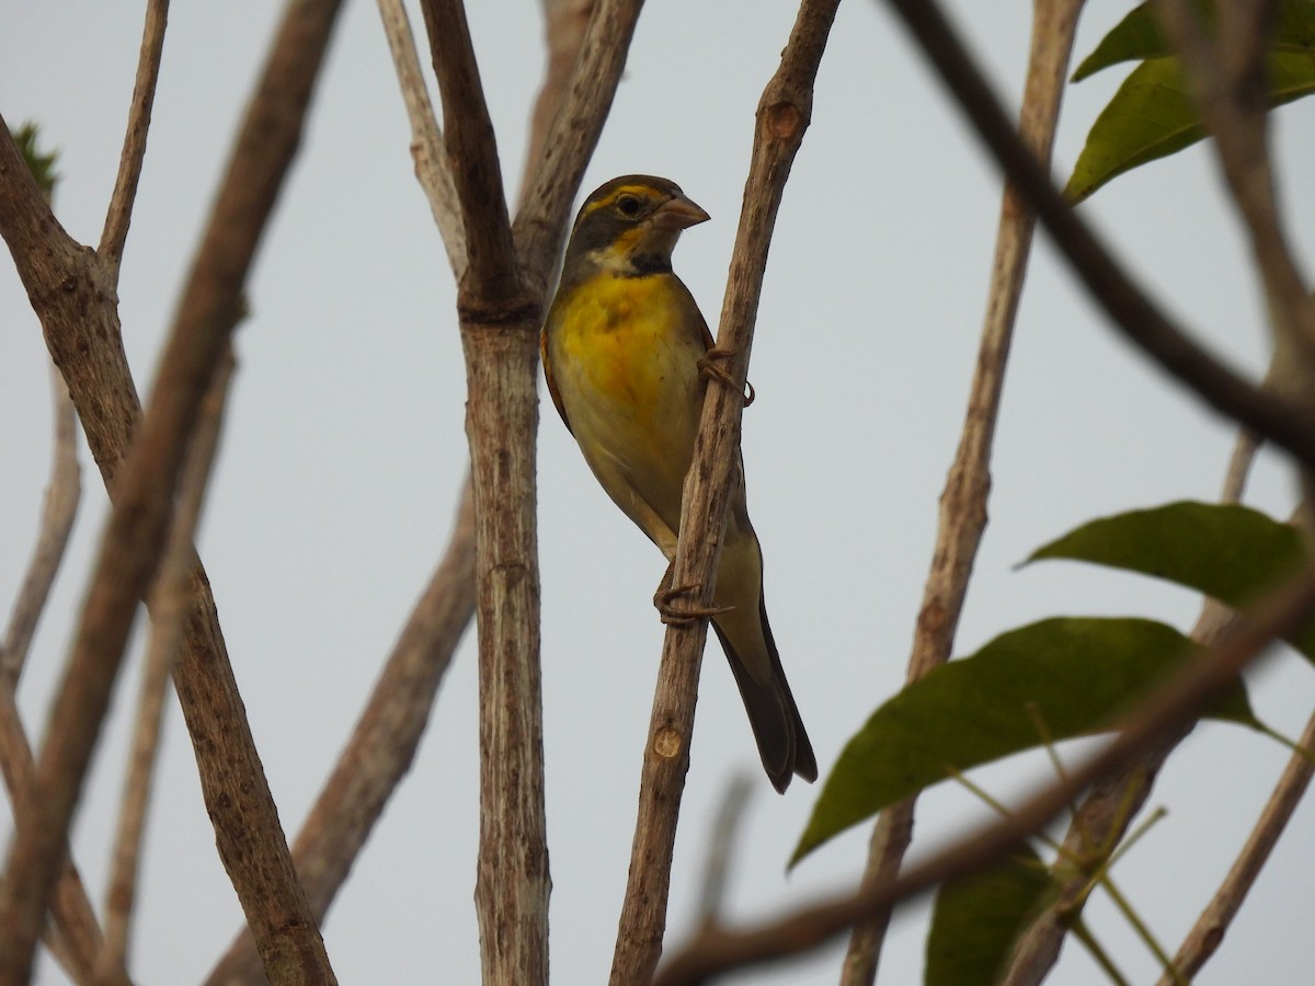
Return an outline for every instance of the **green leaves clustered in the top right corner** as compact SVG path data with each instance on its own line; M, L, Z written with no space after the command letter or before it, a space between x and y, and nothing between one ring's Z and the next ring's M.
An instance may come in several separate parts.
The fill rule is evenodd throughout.
M1212 30L1215 4L1194 7ZM1082 60L1073 82L1122 62L1141 62L1097 117L1064 193L1078 202L1124 171L1205 135L1195 103L1149 4L1141 4ZM1315 0L1281 0L1266 58L1270 108L1315 92Z

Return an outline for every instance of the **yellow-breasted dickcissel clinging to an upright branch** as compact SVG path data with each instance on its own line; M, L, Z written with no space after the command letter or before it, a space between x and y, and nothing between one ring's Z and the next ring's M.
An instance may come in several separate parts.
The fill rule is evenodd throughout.
M576 217L543 326L552 402L608 496L668 561L713 347L698 305L671 270L671 251L681 230L705 220L667 179L625 175L602 185ZM735 473L713 628L767 776L784 791L793 774L817 780L818 768L767 623L763 552L744 506L743 463Z

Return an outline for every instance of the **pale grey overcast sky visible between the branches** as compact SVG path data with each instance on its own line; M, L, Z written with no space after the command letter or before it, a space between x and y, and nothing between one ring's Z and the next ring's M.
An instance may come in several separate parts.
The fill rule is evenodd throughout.
M138 4L11 3L0 32L0 108L39 121L60 149L57 213L99 241L141 35ZM1130 4L1089 4L1078 57ZM953 5L1006 97L1022 88L1030 4ZM124 262L121 316L138 388L162 334L270 38L275 5L176 4ZM471 4L471 28L514 199L542 74L530 0ZM736 226L753 109L794 4L654 3L584 191L643 171L679 181L713 221L676 270L715 322ZM419 25L418 13L413 13ZM427 62L427 59L426 59ZM1122 70L1065 97L1066 175ZM1291 233L1315 256L1315 101L1274 114ZM239 368L200 535L220 618L284 827L296 832L383 657L447 540L460 486L464 372L454 288L412 175L409 133L373 4L347 7L302 154L249 284ZM750 505L782 660L823 776L898 690L960 430L984 308L998 179L881 4L842 5L817 83L767 271L744 418ZM1084 212L1165 304L1260 372L1265 329L1244 239L1202 147L1118 179ZM0 603L30 551L49 463L47 356L8 262L0 263ZM540 404L539 535L554 981L602 982L625 886L642 744L663 627L651 597L664 563L596 485ZM1044 238L1006 383L988 528L955 652L1059 614L1147 615L1189 628L1197 601L1148 580L1049 563L1036 546L1097 515L1216 496L1232 433L1115 338ZM39 730L67 651L105 494L82 450L75 540L38 630L21 703ZM1277 460L1251 502L1291 504ZM137 651L134 651L134 655ZM325 927L343 983L477 982L471 903L477 837L473 634L443 684L414 768ZM752 920L848 886L863 826L794 873L784 865L819 787L777 797L713 644L677 843L669 943L690 928L707 831L738 770L755 782L729 915ZM78 816L76 857L101 897L135 661ZM1258 715L1295 736L1315 676L1282 653L1251 674ZM172 705L172 703L171 703ZM892 751L898 756L898 751ZM1253 824L1287 753L1206 724L1164 773L1169 809L1115 878L1172 952ZM1006 797L1049 776L1044 757L976 774ZM948 785L923 798L917 851L984 819ZM1308 933L1315 815L1303 806L1201 983L1297 982ZM8 823L0 831L8 837ZM151 986L200 979L241 910L213 851L181 715L168 710L149 827L133 969ZM1099 894L1095 933L1136 982L1155 961ZM919 981L926 907L899 911L881 982ZM839 949L743 982L835 982ZM63 977L50 961L41 983ZM1099 981L1069 943L1055 983Z

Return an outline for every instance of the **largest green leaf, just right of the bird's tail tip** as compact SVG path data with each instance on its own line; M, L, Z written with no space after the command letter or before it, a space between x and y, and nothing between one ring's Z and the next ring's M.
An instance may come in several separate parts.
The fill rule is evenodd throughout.
M1107 727L1198 651L1148 619L1057 618L992 640L877 709L827 777L792 865L849 826L952 770ZM1241 684L1210 710L1258 726Z

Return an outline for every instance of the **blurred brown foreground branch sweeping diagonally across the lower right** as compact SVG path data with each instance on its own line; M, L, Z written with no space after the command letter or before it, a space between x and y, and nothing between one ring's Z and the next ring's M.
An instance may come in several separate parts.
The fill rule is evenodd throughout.
M998 860L1064 810L1068 801L1185 722L1230 688L1237 674L1277 639L1315 610L1315 567L1307 567L1281 590L1247 611L1223 639L1190 661L1130 713L1122 731L1085 764L1032 797L1010 818L985 826L931 860L899 876L743 932L705 929L654 979L655 986L704 983L731 969L818 948L855 922L934 886L976 873Z

